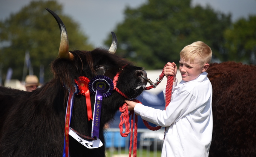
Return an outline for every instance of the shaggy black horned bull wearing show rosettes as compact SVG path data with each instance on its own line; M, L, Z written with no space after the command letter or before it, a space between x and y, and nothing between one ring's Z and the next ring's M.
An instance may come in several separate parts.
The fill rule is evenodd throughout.
M54 78L32 92L0 87L0 157L61 157L64 144L64 124L68 89L73 89L74 79L86 76L92 79L104 75L111 79L121 72L117 87L129 98L141 94L146 86L146 72L113 54L117 40L109 51L69 51L66 28L61 19L51 10L59 24L61 43L59 56L51 64ZM90 94L92 108L95 96ZM103 98L100 135L104 143L103 128L114 117L124 100L117 91ZM75 95L71 127L77 132L91 136L92 121L87 120L86 99ZM100 148L86 149L69 136L69 151L73 157L103 157L104 144Z

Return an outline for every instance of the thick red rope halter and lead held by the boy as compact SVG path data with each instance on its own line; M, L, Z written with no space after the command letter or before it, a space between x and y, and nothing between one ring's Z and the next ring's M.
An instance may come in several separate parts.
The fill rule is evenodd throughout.
M166 66L164 66L164 67L166 67ZM113 90L116 90L119 94L121 94L125 98L129 99L123 92L121 92L116 87L119 75L120 75L120 72L118 72L117 75L113 79L113 84L114 84ZM161 75L159 75L159 78L158 78L157 82L155 83L155 85L151 85L149 87L146 87L145 90L150 90L152 88L155 88L162 81L163 78L164 78L164 69L162 70ZM171 101L172 86L173 86L173 76L169 75L168 78L167 78L167 84L166 84L166 106L165 106L165 109L166 109L166 107L169 105L169 103ZM141 103L141 102L139 102L139 100L132 100L132 101L137 102L137 103ZM133 138L133 157L136 157L137 156L136 153L137 153L137 133L138 133L137 132L137 130L138 130L137 123L138 123L138 116L135 115L135 122L134 122L133 121L133 119L134 119L133 118L134 117L134 112L130 111L130 114L129 114L127 103L124 103L123 106L121 106L119 108L119 111L121 112L120 124L119 124L120 135L122 137L127 137L128 134L131 133L131 135L130 135L129 157L131 157L131 152L132 152L132 138ZM133 115L131 117L131 123L132 123L131 124L131 131L130 131L130 123L129 123L130 115ZM132 137L133 136L133 123L134 123L134 137ZM145 120L143 120L143 123L150 130L159 130L159 129L161 129L161 126L156 126L156 127L150 126L149 123L147 121L145 121ZM126 130L125 133L123 133L123 124L125 125L125 130Z

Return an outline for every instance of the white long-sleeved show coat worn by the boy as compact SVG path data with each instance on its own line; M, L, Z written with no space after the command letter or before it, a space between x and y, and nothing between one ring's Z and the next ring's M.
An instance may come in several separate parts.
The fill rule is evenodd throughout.
M142 119L166 127L161 157L208 156L213 121L212 84L206 72L173 87L172 99L166 110L138 103L134 111Z

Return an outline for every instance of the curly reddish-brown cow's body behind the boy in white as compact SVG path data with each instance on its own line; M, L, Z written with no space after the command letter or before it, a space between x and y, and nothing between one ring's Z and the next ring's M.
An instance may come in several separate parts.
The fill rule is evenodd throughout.
M213 138L210 157L256 156L256 66L213 63Z

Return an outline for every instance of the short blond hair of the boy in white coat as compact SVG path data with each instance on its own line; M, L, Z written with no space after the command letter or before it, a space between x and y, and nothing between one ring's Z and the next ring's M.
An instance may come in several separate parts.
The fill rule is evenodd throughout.
M204 42L197 41L185 46L179 53L181 59L194 63L195 60L200 64L210 63L212 60L212 50Z

